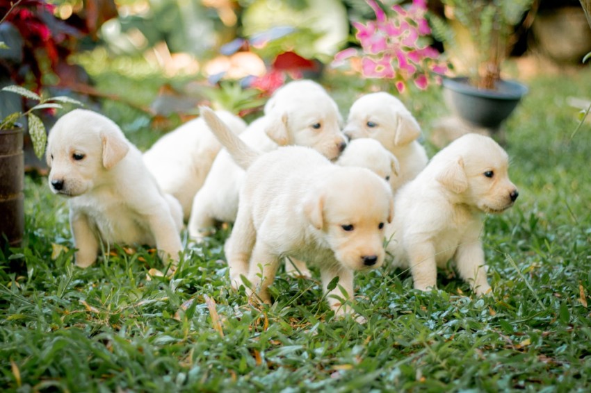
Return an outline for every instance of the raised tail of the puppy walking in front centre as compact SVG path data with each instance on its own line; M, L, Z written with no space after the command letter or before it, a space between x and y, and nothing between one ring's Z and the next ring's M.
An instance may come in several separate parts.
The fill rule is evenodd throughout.
M213 135L216 135L222 146L230 153L234 162L242 169L248 169L261 153L252 149L248 144L245 144L211 108L202 106L200 110L207 126L209 126Z

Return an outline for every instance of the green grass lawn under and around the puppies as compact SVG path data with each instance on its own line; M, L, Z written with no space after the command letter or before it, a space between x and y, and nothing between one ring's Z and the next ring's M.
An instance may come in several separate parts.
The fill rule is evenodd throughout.
M332 83L346 108L359 90ZM569 139L578 120L566 98L589 97L591 73L529 85L506 125L521 196L486 219L493 294L478 299L444 271L439 291L417 292L407 272L380 269L355 281L364 325L335 319L317 280L284 272L273 306L249 306L220 261L227 231L188 250L172 281L147 279L163 268L147 249L111 250L86 270L72 250L52 258L72 246L67 207L45 178L27 178L24 247L0 256L1 389L588 391L591 133L585 124ZM438 92L411 102L427 132L446 112ZM133 122L133 111L111 115Z

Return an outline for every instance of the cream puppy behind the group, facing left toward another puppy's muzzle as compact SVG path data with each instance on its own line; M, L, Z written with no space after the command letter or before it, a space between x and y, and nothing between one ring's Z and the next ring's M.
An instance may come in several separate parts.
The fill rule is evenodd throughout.
M366 94L351 106L343 130L351 139L378 140L400 162L400 174L390 179L392 190L412 180L427 165L425 148L417 141L421 128L399 99L386 92Z

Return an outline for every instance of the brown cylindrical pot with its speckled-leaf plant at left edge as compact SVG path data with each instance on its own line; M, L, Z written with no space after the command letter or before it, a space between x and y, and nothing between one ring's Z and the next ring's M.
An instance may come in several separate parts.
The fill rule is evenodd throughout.
M33 111L62 108L61 103L81 103L70 97L44 98L17 85L3 87L1 91L38 101L25 112L16 111L0 118L0 245L8 242L10 246L19 246L24 233L24 153L23 126L18 122L26 118L33 150L41 158L47 133L43 122Z

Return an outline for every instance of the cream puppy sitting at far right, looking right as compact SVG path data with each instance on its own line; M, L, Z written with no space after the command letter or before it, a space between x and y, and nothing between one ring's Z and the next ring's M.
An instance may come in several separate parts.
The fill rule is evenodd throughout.
M480 241L483 213L503 212L517 199L508 165L494 140L467 134L398 191L387 251L395 266L410 267L416 289L436 287L437 267L453 260L476 294L490 290Z

